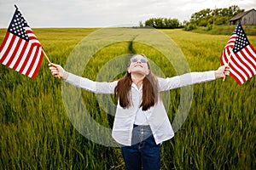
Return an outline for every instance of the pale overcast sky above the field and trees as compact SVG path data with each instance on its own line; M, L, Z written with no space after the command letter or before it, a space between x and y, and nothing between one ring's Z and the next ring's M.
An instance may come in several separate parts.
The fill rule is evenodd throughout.
M158 17L183 22L205 8L256 9L256 0L0 0L1 28L9 26L15 4L32 28L138 26Z

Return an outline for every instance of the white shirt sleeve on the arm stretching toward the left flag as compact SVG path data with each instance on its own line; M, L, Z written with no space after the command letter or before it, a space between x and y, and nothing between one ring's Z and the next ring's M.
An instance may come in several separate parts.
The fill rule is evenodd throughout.
M88 78L73 75L72 73L67 74L66 82L95 94L114 94L114 88L118 82L94 82Z

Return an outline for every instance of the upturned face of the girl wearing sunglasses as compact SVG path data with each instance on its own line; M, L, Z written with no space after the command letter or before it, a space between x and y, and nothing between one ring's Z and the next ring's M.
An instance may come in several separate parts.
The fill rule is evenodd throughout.
M148 68L148 59L141 54L134 55L131 58L131 64L127 70L129 73L148 75L150 72Z

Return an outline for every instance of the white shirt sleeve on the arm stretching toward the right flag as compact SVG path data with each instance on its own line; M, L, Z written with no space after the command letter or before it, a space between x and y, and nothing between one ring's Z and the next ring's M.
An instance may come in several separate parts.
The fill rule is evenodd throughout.
M190 72L177 77L159 78L160 91L181 88L201 82L215 80L214 71Z

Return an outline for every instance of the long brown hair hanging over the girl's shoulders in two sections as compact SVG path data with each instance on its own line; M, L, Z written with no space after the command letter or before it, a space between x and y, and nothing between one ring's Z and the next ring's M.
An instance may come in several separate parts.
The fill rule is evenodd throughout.
M150 65L148 62L147 64L150 70ZM119 99L119 105L123 108L131 106L131 84L131 73L126 71L125 76L119 79L117 86L114 88L115 97ZM147 111L157 103L158 98L159 88L157 78L150 71L143 79L143 101L140 107L143 107L143 111Z

